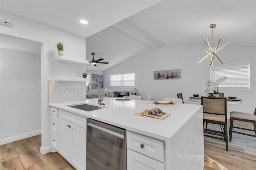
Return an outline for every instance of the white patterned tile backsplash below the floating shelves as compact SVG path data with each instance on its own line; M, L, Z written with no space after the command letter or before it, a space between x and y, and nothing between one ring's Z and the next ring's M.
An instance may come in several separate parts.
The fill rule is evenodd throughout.
M86 82L48 81L48 103L86 99Z

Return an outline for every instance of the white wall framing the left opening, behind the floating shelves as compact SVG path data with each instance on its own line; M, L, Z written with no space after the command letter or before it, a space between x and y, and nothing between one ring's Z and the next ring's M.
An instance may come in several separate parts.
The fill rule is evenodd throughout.
M85 38L49 27L47 25L27 20L19 16L0 11L0 19L8 20L13 27L0 25L2 34L21 37L42 43L41 46L41 152L50 152L50 107L48 106L47 81L56 77L81 78L86 66L80 64L61 63L55 60L57 55L56 42L65 45L64 56L85 59Z

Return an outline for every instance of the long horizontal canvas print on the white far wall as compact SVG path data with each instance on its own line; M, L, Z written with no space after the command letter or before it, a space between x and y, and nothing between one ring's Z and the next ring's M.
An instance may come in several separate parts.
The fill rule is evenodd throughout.
M180 79L180 69L154 71L154 80Z

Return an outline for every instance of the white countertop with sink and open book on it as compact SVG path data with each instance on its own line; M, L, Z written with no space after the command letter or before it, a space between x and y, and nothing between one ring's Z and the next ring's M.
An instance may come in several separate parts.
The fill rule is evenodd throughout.
M154 101L148 104L148 100L116 101L111 99L104 98L103 102L105 105L101 107L106 108L94 111L84 111L69 106L86 103L100 106L97 104L98 98L48 105L164 141L170 139L194 113L202 112L202 106L195 104L161 106L152 104ZM139 111L154 106L160 107L162 111L171 115L165 119L135 115Z

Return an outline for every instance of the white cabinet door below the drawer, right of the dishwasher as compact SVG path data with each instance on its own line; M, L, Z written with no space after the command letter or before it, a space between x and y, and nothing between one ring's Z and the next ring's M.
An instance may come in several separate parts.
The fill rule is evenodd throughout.
M127 170L164 170L164 163L127 149Z

